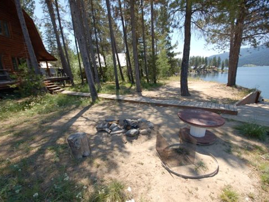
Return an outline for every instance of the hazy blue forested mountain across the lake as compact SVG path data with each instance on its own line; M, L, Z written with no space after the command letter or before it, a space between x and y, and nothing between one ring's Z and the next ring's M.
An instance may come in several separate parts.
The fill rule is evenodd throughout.
M217 58L220 56L222 60L229 58L229 52L224 52L217 55L211 55L209 58ZM259 48L244 48L240 50L238 67L253 64L256 66L269 66L269 48L260 46Z

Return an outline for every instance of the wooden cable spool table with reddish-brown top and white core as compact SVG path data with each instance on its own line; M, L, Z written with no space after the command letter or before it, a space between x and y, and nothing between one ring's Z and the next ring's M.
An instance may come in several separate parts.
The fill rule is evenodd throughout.
M181 128L181 135L188 141L191 137L196 139L196 144L210 145L213 144L217 137L213 132L206 128L214 128L223 126L224 118L219 114L201 110L201 109L185 109L178 113L179 119L190 127Z

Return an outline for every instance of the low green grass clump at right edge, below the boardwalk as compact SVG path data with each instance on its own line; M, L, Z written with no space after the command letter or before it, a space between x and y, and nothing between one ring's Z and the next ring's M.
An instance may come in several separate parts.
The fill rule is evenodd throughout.
M243 135L258 139L264 139L266 132L266 127L258 125L255 121L236 126L235 129L238 129Z

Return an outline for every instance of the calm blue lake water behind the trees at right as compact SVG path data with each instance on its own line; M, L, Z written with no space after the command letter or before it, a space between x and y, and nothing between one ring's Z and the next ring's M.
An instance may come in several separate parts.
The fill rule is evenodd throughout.
M200 77L206 81L227 83L228 72L192 74L190 76ZM238 67L236 84L247 88L257 88L262 91L262 97L269 99L269 66Z

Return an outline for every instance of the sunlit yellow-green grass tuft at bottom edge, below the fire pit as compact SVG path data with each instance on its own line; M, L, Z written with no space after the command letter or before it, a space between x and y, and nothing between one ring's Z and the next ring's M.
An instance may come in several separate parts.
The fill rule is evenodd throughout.
M108 186L96 186L90 202L124 202L126 199L124 184L112 180Z

